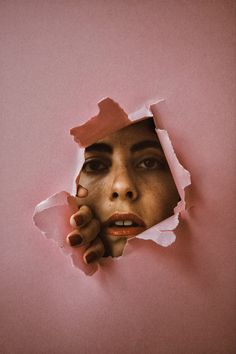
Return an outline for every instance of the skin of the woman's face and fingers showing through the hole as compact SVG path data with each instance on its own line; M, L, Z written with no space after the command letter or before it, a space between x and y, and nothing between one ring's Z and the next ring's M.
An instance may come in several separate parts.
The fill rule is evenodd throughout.
M122 255L127 238L171 216L179 201L150 119L88 147L77 181L79 210L71 217L74 231L67 239L72 247L87 245L86 263L96 262L104 255ZM119 234L122 228L118 228L114 235L114 228L107 228L107 220L124 214L123 219L137 217L142 227L123 228L125 236L122 231Z

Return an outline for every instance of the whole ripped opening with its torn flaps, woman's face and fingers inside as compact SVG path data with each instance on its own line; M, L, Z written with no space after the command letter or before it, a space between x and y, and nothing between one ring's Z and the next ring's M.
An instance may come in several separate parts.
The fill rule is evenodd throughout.
M175 241L190 174L167 132L156 127L151 108L128 116L112 99L102 100L97 116L71 129L79 144L76 197L61 192L36 207L35 224L86 274L93 274L104 256L121 256L134 237L161 246ZM63 231L57 226L49 231L49 212L59 215L63 207Z

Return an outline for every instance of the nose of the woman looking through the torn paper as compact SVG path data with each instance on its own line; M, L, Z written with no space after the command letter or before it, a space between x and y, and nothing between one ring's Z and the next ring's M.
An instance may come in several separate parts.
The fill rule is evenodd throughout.
M138 198L138 190L135 185L135 176L131 176L127 169L118 171L111 186L110 199L134 201Z

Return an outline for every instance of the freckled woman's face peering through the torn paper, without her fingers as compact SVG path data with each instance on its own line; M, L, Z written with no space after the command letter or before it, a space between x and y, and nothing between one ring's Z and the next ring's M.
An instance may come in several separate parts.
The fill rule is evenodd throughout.
M123 128L85 149L78 183L102 225L101 238L112 256L127 238L173 214L179 201L156 132L147 120Z

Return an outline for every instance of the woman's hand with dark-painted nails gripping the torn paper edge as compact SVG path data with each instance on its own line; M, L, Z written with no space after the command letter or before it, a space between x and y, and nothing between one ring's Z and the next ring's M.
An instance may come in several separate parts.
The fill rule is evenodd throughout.
M86 264L90 264L102 258L105 248L99 237L101 228L99 220L94 217L90 207L81 205L81 198L86 197L87 194L88 191L79 186L77 197L68 197L68 203L74 212L70 218L70 224L74 230L67 235L67 242L71 247L86 246L83 260Z

